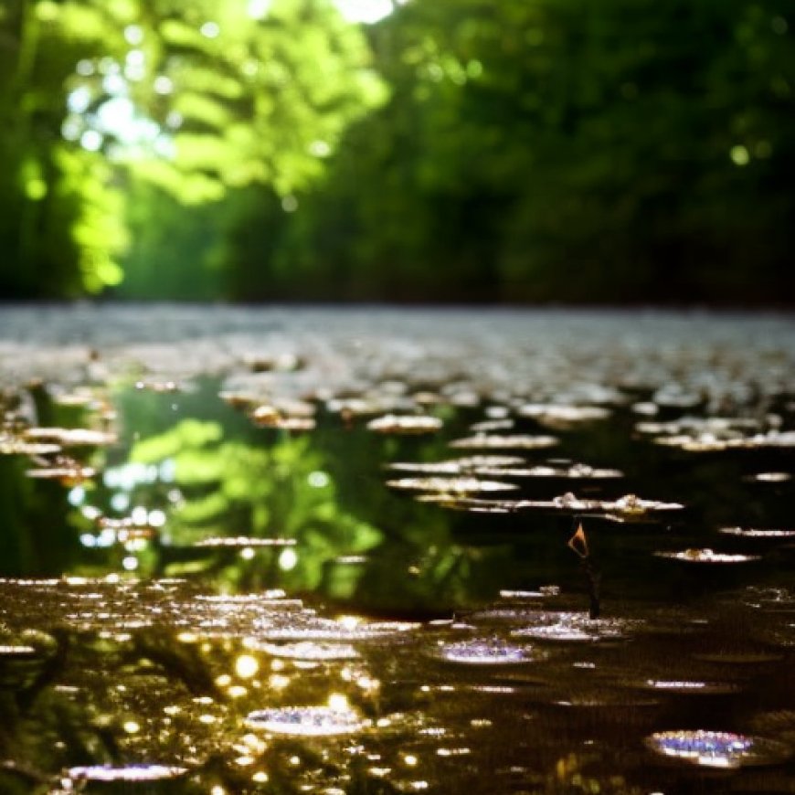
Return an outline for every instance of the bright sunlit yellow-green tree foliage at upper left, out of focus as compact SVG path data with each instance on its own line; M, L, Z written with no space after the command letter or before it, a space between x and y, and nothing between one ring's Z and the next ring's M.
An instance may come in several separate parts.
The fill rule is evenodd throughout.
M384 97L330 0L14 0L0 15L6 296L121 281L125 185L181 205L254 182L289 196ZM162 228L169 199L135 198L136 231Z

